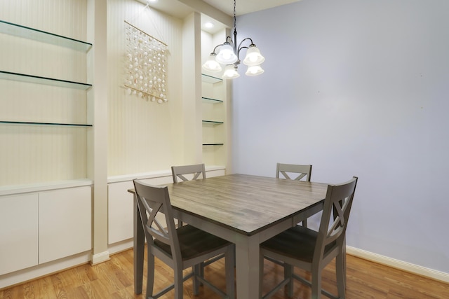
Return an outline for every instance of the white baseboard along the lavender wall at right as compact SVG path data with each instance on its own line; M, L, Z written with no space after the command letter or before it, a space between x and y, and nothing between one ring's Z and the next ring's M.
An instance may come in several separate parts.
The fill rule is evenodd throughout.
M370 251L365 251L362 249L357 249L351 246L346 246L346 253L350 254L351 256L371 260L375 263L380 263L382 265L394 267L399 270L411 272L417 275L449 283L449 273L429 269L427 267L422 267L419 265L414 265L412 263L403 262L402 260L396 260L394 258L389 258L387 256L381 256L380 254L372 253Z

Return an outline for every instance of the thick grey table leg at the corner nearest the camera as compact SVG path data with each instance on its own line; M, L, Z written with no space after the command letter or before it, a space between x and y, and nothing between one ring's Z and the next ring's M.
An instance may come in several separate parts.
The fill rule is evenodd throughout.
M236 239L237 298L259 298L258 236L238 236Z

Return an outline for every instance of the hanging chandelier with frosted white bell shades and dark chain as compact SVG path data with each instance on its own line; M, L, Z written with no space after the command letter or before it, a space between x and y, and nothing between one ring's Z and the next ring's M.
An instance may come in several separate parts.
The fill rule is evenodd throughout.
M242 46L244 41L249 41L249 46ZM219 52L217 53L217 48ZM237 46L237 28L236 28L236 0L234 0L234 40L231 36L226 37L225 43L215 46L213 53L210 53L208 60L203 64L203 69L206 71L219 72L222 71L220 64L225 65L223 78L232 79L239 77L237 68L241 62L240 51L246 49L246 57L243 64L248 66L246 70L247 76L257 76L264 72L260 64L264 62L265 58L260 55L260 50L255 46L253 40L247 37L243 39L239 46Z

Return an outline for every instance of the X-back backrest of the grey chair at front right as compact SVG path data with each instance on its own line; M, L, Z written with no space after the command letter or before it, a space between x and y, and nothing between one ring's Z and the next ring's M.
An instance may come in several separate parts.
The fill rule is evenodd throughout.
M328 248L336 248L336 246L344 244L344 235L356 191L357 180L358 178L354 176L346 183L328 186L318 238L316 239L314 260L315 258L323 257L325 247L329 244L331 245Z

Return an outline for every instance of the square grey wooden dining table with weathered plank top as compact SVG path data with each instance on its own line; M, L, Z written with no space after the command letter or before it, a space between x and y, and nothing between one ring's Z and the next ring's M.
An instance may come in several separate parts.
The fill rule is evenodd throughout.
M255 299L260 243L321 211L328 184L227 174L164 186L175 218L235 244L236 298ZM128 191L134 194L134 290L140 294L145 232L135 190Z

